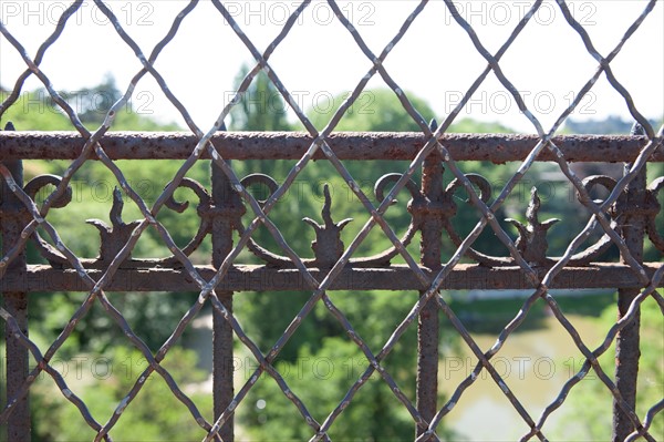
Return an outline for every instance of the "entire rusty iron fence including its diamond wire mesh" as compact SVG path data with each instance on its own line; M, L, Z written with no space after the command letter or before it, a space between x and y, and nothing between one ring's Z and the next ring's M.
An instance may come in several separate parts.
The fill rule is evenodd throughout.
M273 378L283 394L292 402L303 421L311 428L311 440L329 440L328 431L334 425L338 417L344 412L355 393L362 389L369 378L377 372L387 383L390 390L398 399L413 419L414 439L417 441L439 440L436 433L443 419L455 408L465 390L470 387L480 372L486 370L500 388L511 405L530 429L522 440L537 438L547 440L546 428L550 415L563 405L568 393L591 371L604 383L613 397L614 440L632 441L643 438L654 441L649 429L655 415L664 408L664 399L653 403L645 415L637 415L635 409L636 377L639 371L640 346L640 305L646 298L654 299L664 311L664 298L657 291L664 286L664 265L661 261L644 263L644 241L652 241L660 254L664 253L664 238L657 230L656 217L661 213L657 193L664 187L664 177L652 183L646 182L646 165L657 167L664 162L662 148L663 129L652 127L649 121L635 107L630 93L611 70L611 61L620 53L625 42L639 30L641 23L656 4L650 1L637 20L626 30L619 44L608 54L601 54L593 45L584 28L575 21L569 6L560 0L558 8L569 25L578 33L588 52L596 60L595 73L588 79L577 93L575 100L560 115L553 126L546 129L529 111L518 90L504 74L500 59L528 25L533 13L542 4L535 1L529 11L513 29L507 41L495 54L490 53L475 33L468 22L456 10L455 2L445 0L459 27L467 32L477 51L484 56L487 66L466 92L461 102L438 125L424 121L413 106L408 96L384 68L384 61L391 50L408 32L418 14L425 10L427 1L414 3L412 13L402 24L392 41L380 53L373 53L365 44L357 29L346 19L339 6L329 0L330 8L343 24L362 52L371 60L373 66L357 83L352 94L336 110L330 123L319 132L297 100L280 81L278 72L270 68L269 59L274 49L291 31L298 16L311 6L311 1L302 1L289 18L279 35L264 51L259 50L243 33L242 27L227 10L222 1L212 0L215 8L231 25L256 59L237 91L237 100L226 105L216 124L205 132L191 120L187 109L169 90L162 74L155 69L155 62L162 50L178 32L178 27L197 7L198 1L190 1L177 16L170 30L154 48L152 53L144 53L138 44L125 32L120 20L101 0L94 4L114 24L115 31L136 54L143 69L138 71L126 88L124 96L113 105L98 130L91 132L80 121L76 112L59 95L49 80L48 73L40 69L40 63L50 47L59 39L70 18L82 7L84 1L74 1L64 11L55 31L43 42L34 55L21 45L8 28L0 22L1 38L6 39L25 62L27 69L17 79L13 91L0 104L0 115L17 102L25 80L34 75L48 89L53 101L71 120L77 133L38 133L11 131L6 127L0 132L0 173L2 174L2 201L0 205L2 230L2 258L0 260L0 285L4 305L0 308L6 327L7 346L7 403L0 413L0 422L8 431L11 441L30 440L29 392L37 377L45 372L58 388L80 411L81 419L96 432L95 440L111 440L114 425L122 419L123 412L132 401L141 394L148 377L162 377L173 394L181 401L191 414L191 425L205 430L205 440L234 440L234 413L242 404L249 390L256 384L259 376L266 373ZM289 103L308 133L231 133L220 132L224 120L241 94L247 91L259 72L264 72ZM463 106L479 88L489 73L494 73L500 83L510 92L520 111L530 120L537 135L454 135L446 134L450 124ZM344 112L353 104L364 90L371 78L378 74L398 96L403 107L419 125L421 133L335 133L334 129ZM116 112L125 105L136 84L146 75L152 75L159 84L168 100L180 112L187 122L190 133L110 133ZM622 95L630 113L637 122L635 132L625 136L562 136L557 132L566 119L579 105L583 96L591 90L601 75L605 75L611 85ZM23 130L23 127L18 127ZM40 176L23 183L22 164L30 160L68 160L71 161L63 176ZM116 160L173 160L180 161L181 166L154 204L148 205L132 187ZM277 184L267 175L239 177L230 165L231 160L297 160L283 183ZM270 210L294 182L295 177L312 160L329 162L346 182L366 212L369 220L347 246L340 243L340 232L344 222L334 223L330 213L329 197L323 209L323 224L309 223L317 232L315 258L303 259L289 246L279 228L270 219ZM342 161L355 160L371 162L374 160L403 160L409 166L402 174L385 176L376 183L377 205L357 185L357 177L351 176ZM69 203L71 181L84 163L98 161L117 178L122 191L141 209L143 218L133 224L124 224L120 218L120 199L112 212L113 229L102 243L97 259L81 259L61 240L56 229L49 220L49 213ZM466 161L490 161L496 164L519 162L518 172L505 184L498 196L489 199L488 183L475 174L465 174L460 164ZM185 175L197 162L211 164L211 188L206 189L199 183ZM592 216L587 225L569 244L560 257L547 256L547 230L551 220L540 222L538 209L540 202L533 193L527 209L528 225L512 222L519 230L513 240L507 234L505 223L496 216L497 210L519 184L523 175L536 162L553 162L567 179L574 186L579 202ZM570 168L572 162L622 162L624 174L620 179L605 176L592 176L581 179ZM445 187L444 172L452 174L452 183ZM422 171L422 183L415 183ZM259 201L248 187L261 184L270 189L269 197ZM42 204L35 203L37 193L45 185L55 186ZM172 234L157 220L159 210L176 206L173 199L178 187L194 189L200 203L198 213L200 227L196 238L184 248L174 241ZM593 199L593 187L604 187L609 196L603 201ZM412 199L408 203L411 225L404 237L397 234L385 220L396 194L407 189ZM456 215L456 203L453 194L465 189L470 204L481 213L481 218L470 234L461 236L454 230L452 219ZM387 192L388 191L388 192ZM326 195L329 196L329 195ZM241 222L242 215L252 214L248 225ZM339 214L335 214L338 216ZM253 238L259 226L264 226L281 248L280 254L268 251ZM134 259L129 255L138 238L148 228L156 229L168 246L173 256L166 259ZM509 250L508 256L489 256L473 248L474 241L486 228L494 232L496 240ZM43 229L49 241L38 233ZM380 228L392 247L383 254L370 258L353 257L370 230ZM590 247L582 247L593 230L602 233L601 238ZM419 232L422 236L422 256L414 258L406 246ZM211 236L212 255L210 265L194 265L190 254L200 240ZM234 235L238 240L234 243ZM452 240L456 251L448 258L442 258L442 243ZM25 248L33 243L40 254L49 261L37 265L27 261ZM52 244L52 245L51 245ZM620 261L602 260L610 246L620 250ZM263 260L263 265L246 265L238 260L242 250L250 250ZM401 257L403 265L391 264L394 257ZM660 255L661 256L661 255ZM468 258L473 263L461 261ZM279 278L266 278L266 275L278 275ZM50 281L50 290L82 290L86 292L84 302L77 308L60 336L45 352L30 340L28 297L31 291L43 290L42 281ZM273 287L264 287L263 281L274 280ZM258 282L260 281L260 282ZM590 348L580 338L573 325L566 318L550 289L564 288L615 288L619 290L619 319L606 333L603 342ZM247 290L310 290L311 297L301 307L290 326L272 348L263 353L246 332L234 315L234 292ZM378 352L372 352L365 340L355 332L349 321L328 292L340 289L370 290L418 290L419 299L409 313L403 318L390 339ZM528 288L531 295L522 304L513 319L505 326L496 343L489 349L480 348L466 329L461 320L440 296L442 289L507 289ZM149 291L196 290L198 300L184 315L170 338L153 353L149 348L132 330L129 323L111 302L107 291ZM519 328L528 316L533 304L542 299L556 319L567 330L585 361L581 369L563 386L560 393L539 417L529 413L522 402L510 390L508 382L491 363L491 359L510 335ZM352 384L336 408L329 410L323 421L317 421L308 410L308 404L289 388L286 379L276 369L273 362L289 339L297 333L298 327L312 311L315 305L324 307L336 318L351 339L366 357L366 368ZM90 413L86 404L68 386L65 379L50 366L56 351L71 336L77 322L94 304L101 305L110 318L124 331L131 343L138 349L148 367L135 379L134 387L117 404L113 415L106 422L97 421ZM162 367L174 345L178 342L183 331L190 326L204 305L214 308L214 421L203 417L196 404L178 387L170 373ZM447 318L454 326L465 345L479 362L473 372L456 387L454 394L446 403L437 403L438 392L438 327L439 320ZM414 325L417 322L417 326ZM393 350L400 338L411 327L418 330L417 390L415 403L403 393L392 374L384 368L383 360ZM228 363L232 359L234 340L239 340L258 361L256 372L239 390L234 389L232 370ZM616 345L615 376L600 366L598 358L606 352L612 342ZM30 369L30 360L34 368ZM613 380L614 379L614 380Z

